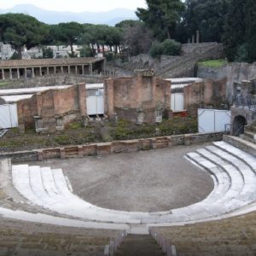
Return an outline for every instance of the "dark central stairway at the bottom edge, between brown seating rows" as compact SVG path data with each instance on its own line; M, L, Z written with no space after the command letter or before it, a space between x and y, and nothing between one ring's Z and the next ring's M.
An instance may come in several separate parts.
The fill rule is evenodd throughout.
M149 235L128 235L122 241L115 256L164 256L161 248Z

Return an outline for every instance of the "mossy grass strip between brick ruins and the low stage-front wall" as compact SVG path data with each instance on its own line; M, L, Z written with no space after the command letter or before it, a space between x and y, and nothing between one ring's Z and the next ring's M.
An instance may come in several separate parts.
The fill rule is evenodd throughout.
M82 127L78 122L69 125L65 131L44 135L38 135L33 130L20 134L15 128L0 138L0 153L195 132L197 132L197 119L179 117L151 125L135 125L126 120L119 120L114 125L105 121L104 125L94 123Z

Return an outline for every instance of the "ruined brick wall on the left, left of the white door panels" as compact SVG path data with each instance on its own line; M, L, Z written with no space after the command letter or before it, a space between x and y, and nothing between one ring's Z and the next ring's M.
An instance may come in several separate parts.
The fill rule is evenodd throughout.
M85 115L85 84L61 90L45 90L31 99L17 102L17 109L21 131L36 128L38 131L54 132L64 128L73 119Z

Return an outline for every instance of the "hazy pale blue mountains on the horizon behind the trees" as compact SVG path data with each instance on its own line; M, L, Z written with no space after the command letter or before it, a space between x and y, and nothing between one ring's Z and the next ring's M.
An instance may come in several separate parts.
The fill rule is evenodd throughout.
M108 12L58 12L40 9L31 4L16 5L11 9L0 9L0 14L23 13L31 15L47 24L77 21L79 23L107 24L113 26L122 20L137 20L135 11L131 9L113 9Z

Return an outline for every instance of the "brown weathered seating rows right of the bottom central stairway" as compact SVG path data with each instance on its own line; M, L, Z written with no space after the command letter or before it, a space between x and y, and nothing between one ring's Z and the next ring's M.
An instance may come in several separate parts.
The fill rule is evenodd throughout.
M253 220L253 222L252 222ZM198 224L154 228L174 244L178 255L255 255L256 212Z

